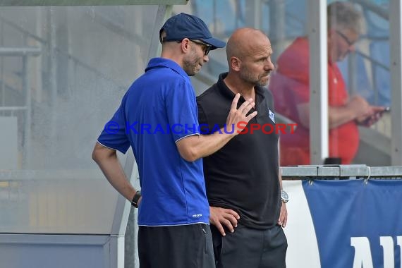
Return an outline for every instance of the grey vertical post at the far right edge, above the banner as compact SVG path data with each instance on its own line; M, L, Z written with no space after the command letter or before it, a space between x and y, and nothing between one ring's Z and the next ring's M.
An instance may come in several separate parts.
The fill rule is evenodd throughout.
M389 1L389 42L391 66L391 164L402 165L402 4L400 0Z

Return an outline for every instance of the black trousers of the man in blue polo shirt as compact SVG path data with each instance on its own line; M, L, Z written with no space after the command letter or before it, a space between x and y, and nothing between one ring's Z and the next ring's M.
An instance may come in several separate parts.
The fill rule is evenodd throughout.
M139 226L140 268L214 268L209 225Z

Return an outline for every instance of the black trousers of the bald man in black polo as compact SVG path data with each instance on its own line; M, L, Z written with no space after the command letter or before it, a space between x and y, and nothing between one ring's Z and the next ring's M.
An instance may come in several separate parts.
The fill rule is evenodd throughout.
M238 224L226 236L214 226L211 231L217 268L286 268L288 242L281 226L257 230Z

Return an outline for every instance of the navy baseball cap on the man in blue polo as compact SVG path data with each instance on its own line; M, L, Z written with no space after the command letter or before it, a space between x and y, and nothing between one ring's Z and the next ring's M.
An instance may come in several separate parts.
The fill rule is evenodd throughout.
M217 49L218 47L225 47L226 42L212 37L207 25L198 17L189 15L186 13L177 14L168 20L159 30L159 37L162 31L166 32L166 37L161 39L164 41L181 41L184 38L188 39L200 39L206 44L210 44L211 49Z

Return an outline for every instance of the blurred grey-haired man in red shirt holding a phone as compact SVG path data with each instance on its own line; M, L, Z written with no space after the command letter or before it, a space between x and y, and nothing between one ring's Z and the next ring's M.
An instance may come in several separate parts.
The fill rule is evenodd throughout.
M359 145L358 124L371 126L384 107L370 106L363 97L349 97L336 61L355 49L363 18L348 2L334 2L328 13L329 157L350 164ZM309 44L298 37L279 56L269 90L276 111L298 124L295 133L281 135L281 165L310 164Z

